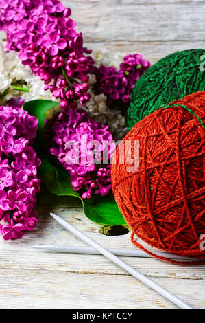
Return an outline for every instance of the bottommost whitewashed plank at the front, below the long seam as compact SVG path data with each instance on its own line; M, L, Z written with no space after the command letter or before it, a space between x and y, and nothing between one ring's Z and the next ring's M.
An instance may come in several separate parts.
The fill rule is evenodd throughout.
M169 301L125 276L68 274L59 271L1 270L1 309L174 309ZM204 308L204 283L155 281L196 309ZM123 293L122 293L123 284Z

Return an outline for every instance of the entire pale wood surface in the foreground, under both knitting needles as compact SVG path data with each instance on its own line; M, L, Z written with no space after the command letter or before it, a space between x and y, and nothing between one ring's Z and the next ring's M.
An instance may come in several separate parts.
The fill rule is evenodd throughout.
M100 225L88 221L81 208L69 207L69 201L64 203L65 207L59 206L59 203L62 199L54 199L52 208L41 205L38 227L21 241L1 240L0 273L3 280L0 283L0 308L175 308L103 256L32 249L34 244L84 245L58 225L48 215L50 211L56 212L105 247L134 248L130 234L116 237L99 234ZM121 258L195 308L204 307L204 266L182 267L157 259ZM121 289L122 284L125 289Z

